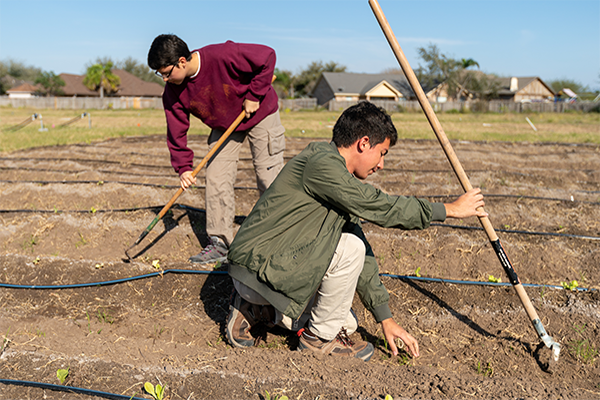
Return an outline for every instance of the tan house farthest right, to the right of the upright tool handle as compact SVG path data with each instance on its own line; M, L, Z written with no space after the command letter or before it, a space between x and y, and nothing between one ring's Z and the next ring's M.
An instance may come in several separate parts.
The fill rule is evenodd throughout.
M499 84L498 98L514 102L553 101L554 90L537 76L496 78Z

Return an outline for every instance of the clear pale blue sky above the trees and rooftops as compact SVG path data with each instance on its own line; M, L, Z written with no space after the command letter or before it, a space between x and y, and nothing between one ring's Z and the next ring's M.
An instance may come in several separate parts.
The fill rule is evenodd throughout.
M599 0L379 0L408 62L435 44L500 76L570 79L600 90ZM84 74L99 57L146 62L159 34L190 49L233 40L275 49L277 67L299 73L312 61L348 72L398 68L367 0L11 1L2 5L0 61ZM422 62L421 62L422 63Z

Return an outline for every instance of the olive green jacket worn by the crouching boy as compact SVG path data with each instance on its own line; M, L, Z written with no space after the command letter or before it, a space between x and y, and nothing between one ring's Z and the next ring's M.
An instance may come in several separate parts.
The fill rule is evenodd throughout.
M367 248L357 292L378 322L392 316L389 295L360 226L424 229L443 221L443 204L390 196L346 168L335 143L309 144L260 197L229 249L229 274L290 318L298 318L317 291L342 232Z

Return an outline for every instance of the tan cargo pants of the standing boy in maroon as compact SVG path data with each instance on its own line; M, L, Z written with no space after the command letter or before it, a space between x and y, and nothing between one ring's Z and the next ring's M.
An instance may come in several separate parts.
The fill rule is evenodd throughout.
M227 243L233 241L235 194L233 185L237 175L240 149L246 137L250 143L256 184L260 194L283 168L285 128L281 125L279 111L269 115L247 131L233 132L216 152L206 167L206 233L218 236ZM208 138L209 149L219 140L222 131L212 130Z

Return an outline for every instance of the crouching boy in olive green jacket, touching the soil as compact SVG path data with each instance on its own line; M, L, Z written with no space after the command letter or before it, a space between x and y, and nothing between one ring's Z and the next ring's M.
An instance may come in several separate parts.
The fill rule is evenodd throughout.
M399 338L419 355L417 341L392 318L360 219L425 229L447 217L487 214L479 189L442 204L391 196L361 182L383 168L396 141L385 111L361 102L340 116L331 143L311 143L283 168L229 250L236 291L226 333L233 346L252 346L249 330L263 321L300 329L300 349L368 360L373 346L348 338L357 327L351 310L357 292L382 324L392 353Z

